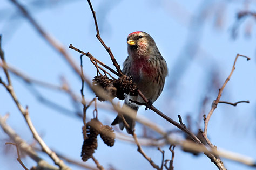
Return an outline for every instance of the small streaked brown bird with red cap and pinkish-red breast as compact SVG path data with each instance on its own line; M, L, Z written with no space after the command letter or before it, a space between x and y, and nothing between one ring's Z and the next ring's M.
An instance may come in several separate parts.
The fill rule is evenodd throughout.
M123 73L132 76L132 81L142 91L143 95L151 103L157 100L164 88L165 77L168 75L167 64L161 56L153 38L146 32L136 31L127 37L128 57L124 61ZM124 105L136 112L139 105L131 103L129 99L144 102L140 96L125 94ZM126 128L127 133L132 134L135 121L134 118L123 114L129 127L125 126L122 117L119 115L111 125L119 124L121 130ZM134 115L136 116L136 115Z

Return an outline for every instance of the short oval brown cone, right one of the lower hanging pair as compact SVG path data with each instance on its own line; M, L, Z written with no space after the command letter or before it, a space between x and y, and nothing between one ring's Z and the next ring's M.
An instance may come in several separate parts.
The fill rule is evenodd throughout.
M100 128L100 138L104 141L107 146L112 147L114 145L114 138L116 135L114 134L113 128L110 126L104 125Z

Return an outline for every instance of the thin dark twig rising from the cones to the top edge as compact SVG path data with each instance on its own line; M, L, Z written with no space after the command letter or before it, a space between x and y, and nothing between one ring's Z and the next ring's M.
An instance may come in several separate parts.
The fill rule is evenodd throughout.
M100 37L100 34L99 34L99 28L98 28L98 23L97 23L97 19L96 19L96 12L93 10L92 8L92 4L91 4L91 1L88 0L88 4L90 6L90 9L92 11L92 16L93 16L93 19L94 19L94 22L95 22L95 27L96 27L96 37L98 38L98 40L100 41L100 43L103 45L103 47L106 49L106 51L109 53L110 55L110 58L113 62L113 65L114 67L116 67L117 69L117 72L118 72L118 76L124 76L124 74L122 73L122 70L120 69L120 65L118 65L117 63L117 60L114 58L114 55L112 53L112 51L110 50L109 47L106 46L105 42L102 40L102 38Z

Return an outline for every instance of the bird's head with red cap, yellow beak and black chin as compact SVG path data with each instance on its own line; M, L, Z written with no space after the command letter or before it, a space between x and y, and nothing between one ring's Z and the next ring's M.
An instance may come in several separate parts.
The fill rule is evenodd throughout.
M136 55L137 57L149 57L150 53L156 49L156 43L153 38L142 31L130 33L127 37L128 53L129 55Z

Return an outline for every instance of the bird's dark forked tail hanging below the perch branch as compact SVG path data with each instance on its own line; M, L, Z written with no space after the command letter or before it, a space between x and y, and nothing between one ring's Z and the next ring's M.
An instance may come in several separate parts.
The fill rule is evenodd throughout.
M131 109L133 109L136 112L139 109L139 107L137 105L132 104L131 102L127 102L126 100L125 100L124 105L126 105L127 107L130 107ZM124 105L123 105L123 107L124 107ZM111 125L119 124L119 128L121 130L123 130L124 127L125 127L127 133L132 134L134 126L135 126L135 119L134 118L136 117L136 115L132 116L134 118L132 118L131 116L125 115L125 114L123 114L123 116L124 116L125 121L129 125L129 127L125 126L125 123L123 122L122 117L119 116L119 115L117 115L117 117L114 119L114 121L111 123Z

